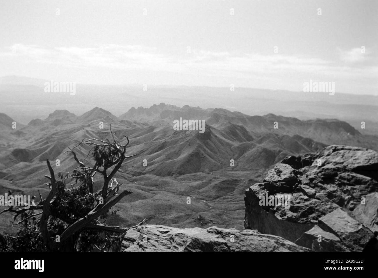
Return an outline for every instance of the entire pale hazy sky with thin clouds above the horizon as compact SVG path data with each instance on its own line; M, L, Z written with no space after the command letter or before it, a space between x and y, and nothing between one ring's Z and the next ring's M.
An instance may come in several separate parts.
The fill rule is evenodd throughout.
M294 91L312 79L377 95L377 13L375 0L2 0L0 76Z

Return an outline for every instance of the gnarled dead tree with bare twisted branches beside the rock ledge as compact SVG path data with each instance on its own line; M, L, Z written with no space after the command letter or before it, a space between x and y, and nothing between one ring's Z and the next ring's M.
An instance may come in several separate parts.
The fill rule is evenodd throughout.
M64 195L64 191L62 190L66 190L65 192L67 192L67 189L65 189L65 179L63 178L63 175L59 174L60 180L56 180L54 170L48 160L46 160L46 163L50 175L45 175L45 177L50 180L49 183L46 183L48 186L50 186L50 193L46 199L43 199L42 195L39 194L40 202L35 206L31 205L30 208L10 207L1 213L4 213L5 211L15 213L15 221L19 215L25 215L25 212L27 211L42 210L36 214L29 213L27 217L23 218L19 222L14 222L14 224L22 224L31 217L36 217L37 215L41 214L39 220L39 232L47 251L74 251L78 236L85 230L98 230L125 234L130 228L142 225L147 219L144 219L138 225L130 228L108 226L101 223L101 221L98 219L100 216L106 214L110 208L118 203L123 197L132 193L128 190L124 190L119 193L119 187L122 184L119 184L118 182L116 182L116 186L114 188L109 187L109 183L113 183L112 179L116 172L121 168L124 160L135 156L135 154L129 156L126 155L126 147L129 144L129 138L127 136L124 135L127 141L124 145L122 145L120 142L115 140L115 134L113 134L111 126L110 134L112 135L112 142L110 142L108 139L100 140L97 138L84 138L81 142L78 142L74 148L69 150L69 152L73 154L74 160L77 162L78 166L75 168L72 175L67 174L67 176L76 180L76 182L78 180L81 181L81 186L85 186L88 189L90 196L93 197L93 200L95 200L91 210L84 216L67 216L61 211L53 209L54 206L56 206L56 203L59 202L61 196ZM93 166L86 166L84 162L79 160L76 152L74 151L76 148L80 149L85 146L91 147L87 157L92 154L94 160ZM93 192L93 177L97 172L102 175L104 182L101 190ZM63 221L66 226L59 235L59 241L56 240L57 235L55 237L52 236L48 228L48 223L51 216Z

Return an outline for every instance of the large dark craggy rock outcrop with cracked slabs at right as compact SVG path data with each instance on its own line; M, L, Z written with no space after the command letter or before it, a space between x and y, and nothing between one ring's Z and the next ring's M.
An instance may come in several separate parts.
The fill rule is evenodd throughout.
M314 251L361 252L378 230L378 152L328 146L290 156L245 192L245 228ZM259 196L290 194L290 206Z

